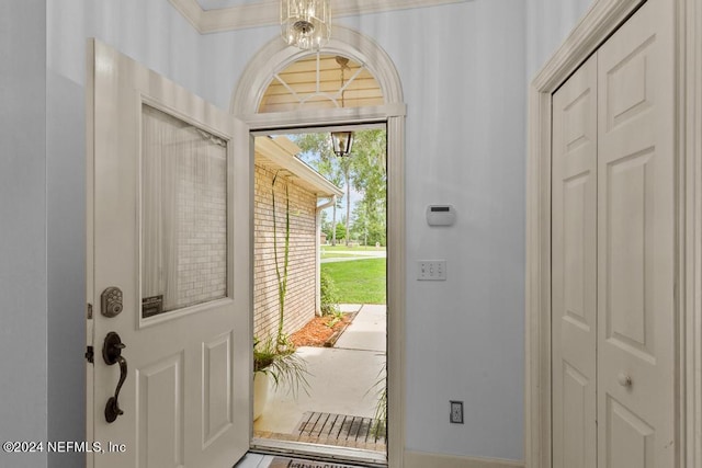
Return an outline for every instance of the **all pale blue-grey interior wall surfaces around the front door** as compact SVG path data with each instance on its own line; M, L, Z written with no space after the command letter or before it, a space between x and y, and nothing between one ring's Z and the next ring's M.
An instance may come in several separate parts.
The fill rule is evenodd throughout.
M339 20L387 50L408 104L409 449L522 458L525 77L584 2L474 0ZM2 68L2 78L10 75L31 99L22 101L22 121L14 114L18 98L5 106L3 94L0 110L2 352L23 356L2 364L3 375L21 377L0 384L0 438L80 441L86 37L228 109L246 64L278 28L200 36L166 0L10 3L0 10L0 61L14 68ZM46 48L44 16L34 14L42 8L48 8L46 57L13 53ZM7 125L9 115L13 124ZM30 136L38 136L36 146ZM8 159L5 151L16 156ZM432 203L453 204L456 226L429 228L423 213ZM449 281L417 283L418 259L446 259ZM450 399L465 401L464 425L449 424ZM48 466L81 460L54 455ZM44 466L33 456L12 465Z

